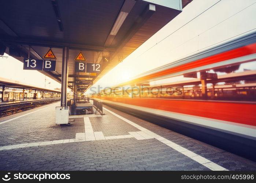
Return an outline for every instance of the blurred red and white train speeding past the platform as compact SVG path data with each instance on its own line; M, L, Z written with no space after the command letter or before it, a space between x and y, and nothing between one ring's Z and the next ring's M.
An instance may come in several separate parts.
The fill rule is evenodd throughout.
M145 72L94 97L256 160L256 32Z

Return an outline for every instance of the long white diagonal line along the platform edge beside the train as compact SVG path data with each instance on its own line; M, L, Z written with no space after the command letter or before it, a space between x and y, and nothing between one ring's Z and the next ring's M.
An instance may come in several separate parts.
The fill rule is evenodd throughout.
M139 130L144 131L146 134L151 135L153 138L159 140L160 142L162 142L162 143L164 143L164 144L166 144L166 145L172 147L173 149L177 150L178 152L184 154L185 156L188 156L188 157L191 158L192 160L197 161L197 162L200 163L201 165L204 165L205 167L207 167L207 168L209 168L209 169L211 169L211 170L218 170L218 171L226 170L226 171L227 171L226 168L223 168L223 167L219 166L218 164L213 163L212 161L207 160L206 158L204 158L204 157L202 157L202 156L199 156L198 154L193 153L193 152L191 152L190 150L188 150L188 149L186 149L186 148L184 148L184 147L182 147L182 146L179 146L179 145L177 145L176 143L173 143L172 141L169 141L168 139L163 138L163 137L161 137L160 135L157 135L157 134L155 134L155 133L153 133L153 132L147 130L146 128L143 128L143 127L139 126L138 124L131 122L130 120L128 120L128 119L126 119L126 118L124 118L124 117L122 117L122 116L120 116L120 115L118 115L118 114L116 114L116 113L114 113L114 112L112 112L112 111L110 111L109 109L106 109L106 108L104 108L104 107L103 107L103 109L106 110L106 111L108 111L108 112L110 112L112 115L114 115L114 116L116 116L116 117L119 117L119 118L122 119L123 121L125 121L125 122L131 124L132 126L138 128ZM133 135L133 137L134 137L134 135L136 135L136 132L129 132L129 133L130 133L131 135ZM137 133L137 134L138 134L138 133ZM141 137L142 137L142 136L141 136ZM136 138L136 137L134 137L134 138ZM144 138L144 137L142 137L142 138ZM137 139L137 138L136 138L136 139ZM145 139L145 138L144 138L144 139ZM138 139L138 140L139 140L139 139ZM177 146L176 146L176 145L177 145ZM196 156L192 156L193 154L196 154Z

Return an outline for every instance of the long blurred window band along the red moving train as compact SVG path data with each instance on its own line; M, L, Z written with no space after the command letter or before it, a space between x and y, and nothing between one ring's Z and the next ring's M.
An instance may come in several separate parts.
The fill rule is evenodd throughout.
M145 86L143 83L137 85L141 89L139 94L136 94L137 89L131 90L131 86L125 86L124 92L118 89L117 94L111 94L111 96L256 101L256 61L234 63L190 73L183 72L180 75L156 81L145 81L145 83ZM110 97L109 93L110 89L105 90L104 96Z

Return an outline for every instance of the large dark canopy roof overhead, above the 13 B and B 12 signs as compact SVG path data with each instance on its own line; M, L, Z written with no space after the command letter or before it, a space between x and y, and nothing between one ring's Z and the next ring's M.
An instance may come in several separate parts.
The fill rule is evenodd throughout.
M68 84L72 88L75 57L100 63L97 82L148 38L175 18L192 0L8 0L1 3L0 39L5 51L23 62L41 59L52 48L56 71L40 71L61 81L62 48L69 46ZM158 4L155 4L158 3ZM19 55L21 50L21 55ZM88 86L87 86L88 87Z

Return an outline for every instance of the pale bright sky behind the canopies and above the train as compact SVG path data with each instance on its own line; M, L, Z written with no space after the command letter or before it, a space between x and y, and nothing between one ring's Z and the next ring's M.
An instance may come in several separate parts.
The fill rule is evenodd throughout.
M143 72L250 31L256 31L256 0L218 1L193 0L181 14L103 76L94 86L107 87L129 81ZM45 81L45 75L38 71L23 70L23 63L11 56L0 57L0 77L49 89L60 87L60 84L51 78L46 77ZM88 90L88 93L91 92Z

